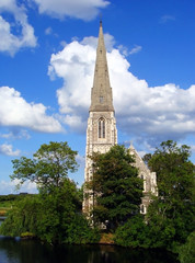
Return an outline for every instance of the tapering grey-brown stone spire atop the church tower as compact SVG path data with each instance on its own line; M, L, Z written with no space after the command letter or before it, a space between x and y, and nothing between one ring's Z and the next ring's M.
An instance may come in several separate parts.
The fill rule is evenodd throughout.
M100 21L99 44L96 48L96 62L93 88L91 90L90 112L114 112L112 88L110 84L106 49L102 21Z

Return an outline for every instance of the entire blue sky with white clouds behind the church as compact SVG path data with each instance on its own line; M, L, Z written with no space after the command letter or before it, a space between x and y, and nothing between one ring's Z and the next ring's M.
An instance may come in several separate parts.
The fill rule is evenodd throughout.
M83 183L100 14L118 142L144 155L173 139L195 162L194 0L0 0L0 194L11 160L51 140L78 150Z

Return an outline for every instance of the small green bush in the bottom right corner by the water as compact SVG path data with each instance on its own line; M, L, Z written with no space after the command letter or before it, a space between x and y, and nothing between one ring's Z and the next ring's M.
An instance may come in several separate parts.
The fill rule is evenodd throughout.
M193 231L185 244L179 249L179 259L181 263L195 262L195 231Z

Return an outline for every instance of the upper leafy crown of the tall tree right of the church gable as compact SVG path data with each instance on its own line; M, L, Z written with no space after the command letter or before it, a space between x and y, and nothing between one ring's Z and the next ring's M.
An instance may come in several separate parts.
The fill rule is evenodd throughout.
M163 141L148 161L157 172L159 196L182 204L192 202L195 165L190 160L191 151L186 145L177 146L172 140Z

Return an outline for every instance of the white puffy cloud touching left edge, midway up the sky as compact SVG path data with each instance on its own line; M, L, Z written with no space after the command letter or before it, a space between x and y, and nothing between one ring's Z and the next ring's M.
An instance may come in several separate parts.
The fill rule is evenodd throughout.
M27 103L19 91L9 87L0 87L0 125L26 127L37 132L61 132L60 123L46 114L42 103Z

